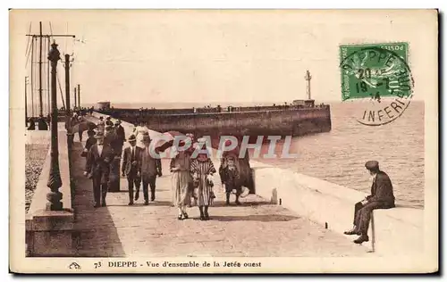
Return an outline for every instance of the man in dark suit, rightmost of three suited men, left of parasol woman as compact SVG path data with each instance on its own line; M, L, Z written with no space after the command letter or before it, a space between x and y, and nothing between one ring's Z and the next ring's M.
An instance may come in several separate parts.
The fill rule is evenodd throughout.
M156 155L150 152L150 137L148 134L143 136L143 144L141 156L141 181L143 182L144 204L149 204L148 186L150 186L151 201L156 199L156 176L160 174L160 160ZM137 195L139 191L137 190Z

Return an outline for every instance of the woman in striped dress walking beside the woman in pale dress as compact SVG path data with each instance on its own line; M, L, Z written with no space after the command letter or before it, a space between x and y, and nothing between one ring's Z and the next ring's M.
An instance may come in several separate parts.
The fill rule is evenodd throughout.
M200 143L200 139L198 140ZM202 146L206 149L206 146ZM212 176L215 173L215 166L207 153L199 153L198 157L191 160L190 171L197 187L198 209L200 211L200 220L209 220L208 206L214 198Z

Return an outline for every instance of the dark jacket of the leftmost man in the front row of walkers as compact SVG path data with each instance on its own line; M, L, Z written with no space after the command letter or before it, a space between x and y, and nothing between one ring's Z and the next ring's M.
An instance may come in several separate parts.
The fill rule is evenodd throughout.
M89 172L91 178L99 180L102 184L106 184L109 181L110 163L113 160L114 153L109 145L103 145L101 155L97 151L97 144L92 145L87 155L85 170Z

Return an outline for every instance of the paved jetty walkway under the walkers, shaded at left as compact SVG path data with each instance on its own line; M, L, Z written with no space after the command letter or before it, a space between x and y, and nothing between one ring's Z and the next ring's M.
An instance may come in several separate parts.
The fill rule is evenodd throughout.
M218 176L215 205L209 210L211 220L198 220L197 207L189 209L189 220L177 220L177 210L170 203L167 160L163 161L164 176L156 180L155 202L143 205L140 189L139 201L128 206L127 180L122 178L122 192L108 193L108 206L94 209L91 180L82 175L85 159L80 157L79 142L74 150L72 171L77 184L73 207L80 256L368 255L366 247L256 195L242 199L241 206L226 206Z

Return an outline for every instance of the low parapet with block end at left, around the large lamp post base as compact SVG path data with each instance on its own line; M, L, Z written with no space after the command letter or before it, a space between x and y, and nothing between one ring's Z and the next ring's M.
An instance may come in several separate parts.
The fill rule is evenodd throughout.
M69 152L63 124L59 124L58 142L59 170L63 183L59 191L63 194L63 211L46 211L46 194L50 192L46 182L51 164L50 151L48 151L25 220L28 256L72 255L74 216L72 212Z

